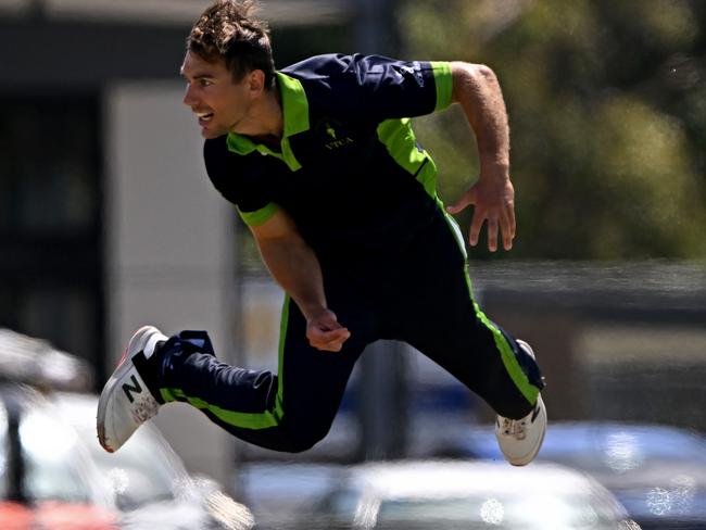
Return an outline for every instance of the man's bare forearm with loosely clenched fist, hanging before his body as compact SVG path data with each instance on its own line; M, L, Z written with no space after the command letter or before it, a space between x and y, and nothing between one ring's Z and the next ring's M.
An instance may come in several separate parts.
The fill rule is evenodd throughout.
M273 278L306 318L306 337L312 346L340 351L351 333L328 308L318 258L299 234L294 222L278 209L263 224L250 226L250 230Z

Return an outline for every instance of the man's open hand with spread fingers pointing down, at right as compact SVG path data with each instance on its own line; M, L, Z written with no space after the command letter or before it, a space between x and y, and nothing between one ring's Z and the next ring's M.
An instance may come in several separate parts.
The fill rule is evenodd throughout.
M462 212L469 204L474 205L474 218L470 223L468 242L478 244L480 229L488 222L488 249L497 250L497 229L500 227L503 248L510 250L515 238L515 189L509 177L479 178L461 199L446 207L450 214Z

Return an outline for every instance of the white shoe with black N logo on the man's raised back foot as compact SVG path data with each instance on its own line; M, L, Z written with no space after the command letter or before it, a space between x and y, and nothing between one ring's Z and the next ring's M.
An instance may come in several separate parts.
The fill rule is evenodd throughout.
M133 432L156 415L160 403L154 399L135 366L154 353L157 342L167 338L153 326L143 326L133 336L121 362L105 383L98 402L98 440L113 453Z

